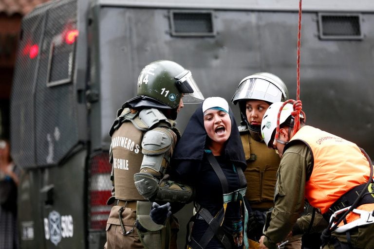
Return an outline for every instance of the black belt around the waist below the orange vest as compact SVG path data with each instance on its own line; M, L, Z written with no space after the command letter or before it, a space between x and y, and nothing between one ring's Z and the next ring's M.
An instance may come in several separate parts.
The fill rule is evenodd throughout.
M352 206L352 204L355 202L357 197L360 195L361 191L364 191L364 194L362 198L358 201L357 207L363 205L363 204L370 204L374 203L374 184L370 183L369 187L367 189L365 188L366 183L363 183L361 185L358 185L345 193L343 196L341 196L339 199L337 199L336 202L334 202L333 205L329 208L329 210L326 213L323 213L322 216L325 218L327 222L330 221L331 215L333 215L338 210L344 209L346 207Z

